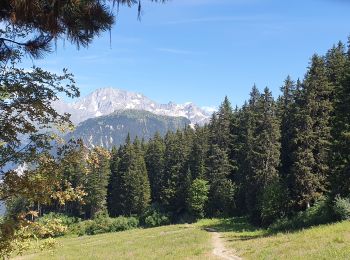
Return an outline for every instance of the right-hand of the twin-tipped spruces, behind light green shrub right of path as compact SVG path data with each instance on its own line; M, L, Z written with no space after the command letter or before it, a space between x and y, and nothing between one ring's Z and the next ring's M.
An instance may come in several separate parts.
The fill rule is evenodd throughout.
M249 172L247 176L246 203L253 221L262 219L265 191L272 183L278 182L280 163L280 130L276 115L276 106L268 88L257 100L257 118L252 133L252 145L249 154ZM268 216L268 218L277 216Z

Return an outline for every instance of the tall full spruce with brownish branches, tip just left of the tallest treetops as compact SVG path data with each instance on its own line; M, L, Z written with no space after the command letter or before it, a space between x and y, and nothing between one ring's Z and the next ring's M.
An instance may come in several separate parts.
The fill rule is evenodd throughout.
M297 209L309 207L326 190L329 172L332 87L322 57L315 55L303 83L296 111L293 196Z

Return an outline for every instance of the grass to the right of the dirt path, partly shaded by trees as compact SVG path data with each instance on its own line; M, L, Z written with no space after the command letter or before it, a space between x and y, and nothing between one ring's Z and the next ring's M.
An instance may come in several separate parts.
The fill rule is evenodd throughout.
M244 218L197 225L222 232L226 248L244 259L350 259L350 221L284 233L254 228Z

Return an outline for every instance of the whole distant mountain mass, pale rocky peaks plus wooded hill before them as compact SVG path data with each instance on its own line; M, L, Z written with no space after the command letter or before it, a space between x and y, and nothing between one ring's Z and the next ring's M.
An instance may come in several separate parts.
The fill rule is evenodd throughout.
M128 133L132 139L148 140L156 132L165 135L188 125L204 125L211 116L191 102L158 104L142 94L114 88L98 89L74 103L53 105L59 113L71 114L76 125L67 137L82 138L90 147L118 146Z

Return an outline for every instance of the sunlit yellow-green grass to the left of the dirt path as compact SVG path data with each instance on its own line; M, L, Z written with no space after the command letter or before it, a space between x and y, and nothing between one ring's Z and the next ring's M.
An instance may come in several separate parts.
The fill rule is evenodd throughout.
M210 233L191 225L57 239L55 251L16 259L216 259Z

